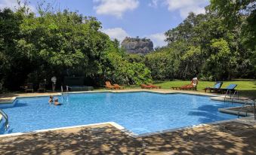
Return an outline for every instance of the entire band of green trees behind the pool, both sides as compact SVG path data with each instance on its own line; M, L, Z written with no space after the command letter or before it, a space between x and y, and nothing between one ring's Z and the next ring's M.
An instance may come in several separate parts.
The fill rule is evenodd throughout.
M145 56L128 54L100 32L95 17L77 12L37 14L26 6L0 10L0 83L18 90L57 76L83 76L85 84L142 84L174 79L226 81L255 78L256 2L211 0L206 14L190 13L165 32L166 47ZM47 11L45 11L47 10ZM51 9L50 9L51 10Z

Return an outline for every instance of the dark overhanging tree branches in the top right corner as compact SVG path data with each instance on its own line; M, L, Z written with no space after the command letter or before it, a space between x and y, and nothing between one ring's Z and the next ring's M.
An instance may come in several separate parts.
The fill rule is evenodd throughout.
M255 0L211 0L211 9L224 17L227 26L242 24L243 41L251 50L256 49L256 1Z

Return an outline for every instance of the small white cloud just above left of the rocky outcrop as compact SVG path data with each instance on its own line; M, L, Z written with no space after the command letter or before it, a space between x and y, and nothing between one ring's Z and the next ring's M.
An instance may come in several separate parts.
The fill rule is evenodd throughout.
M123 41L125 37L129 36L128 33L122 28L102 29L101 31L106 33L106 35L109 35L111 39L116 38L119 41Z

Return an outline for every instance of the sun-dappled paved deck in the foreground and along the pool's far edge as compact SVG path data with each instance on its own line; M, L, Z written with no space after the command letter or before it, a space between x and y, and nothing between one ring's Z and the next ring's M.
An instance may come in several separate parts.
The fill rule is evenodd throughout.
M93 92L140 91L214 96L212 93L180 90L136 89ZM15 94L5 96L4 99L5 102L12 102L15 97L49 95L60 96L60 93ZM132 136L123 132L119 126L114 126L112 123L0 136L0 154L255 154L255 152L256 121L253 117L141 136Z

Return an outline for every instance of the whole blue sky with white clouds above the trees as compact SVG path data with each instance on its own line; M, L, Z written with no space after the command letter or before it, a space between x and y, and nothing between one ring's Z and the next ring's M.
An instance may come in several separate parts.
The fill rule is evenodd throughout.
M23 1L22 1L23 2ZM36 11L37 2L29 7ZM46 0L56 8L79 11L97 17L110 38L122 41L125 36L150 38L154 47L165 45L168 29L181 23L190 11L204 13L209 0ZM17 0L0 0L0 8L14 8Z

